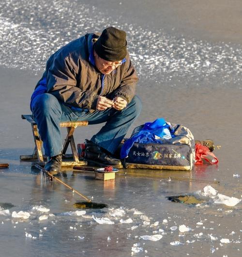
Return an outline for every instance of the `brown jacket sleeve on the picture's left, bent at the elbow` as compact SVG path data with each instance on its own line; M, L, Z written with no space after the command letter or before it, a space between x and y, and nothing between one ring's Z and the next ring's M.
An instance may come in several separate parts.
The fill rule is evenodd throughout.
M70 56L54 57L47 72L47 92L68 105L96 109L98 95L90 90L76 87L76 76L80 65Z

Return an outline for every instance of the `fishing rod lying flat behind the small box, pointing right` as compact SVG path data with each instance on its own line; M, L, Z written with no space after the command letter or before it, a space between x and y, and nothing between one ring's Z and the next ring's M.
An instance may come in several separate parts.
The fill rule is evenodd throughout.
M81 166L74 166L73 169L78 170L85 170L85 171L98 171L98 168L93 167L81 167ZM128 173L127 171L119 171L117 172L118 175L131 175L131 176L137 176L137 177L149 177L149 178L158 178L158 179L168 179L168 180L177 180L177 181L192 181L192 182L200 182L200 183L213 183L213 184L219 184L219 181L206 181L206 180L197 180L197 179L191 179L191 178L173 178L171 176L161 176L161 175L149 175L149 174L142 174L137 172Z

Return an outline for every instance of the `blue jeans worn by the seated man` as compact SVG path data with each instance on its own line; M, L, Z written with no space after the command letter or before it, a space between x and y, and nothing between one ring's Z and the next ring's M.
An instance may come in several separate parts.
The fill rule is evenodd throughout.
M35 97L32 113L44 144L45 155L51 157L61 153L62 136L60 122L88 121L89 124L106 122L101 130L91 137L91 141L110 153L114 153L130 125L136 120L141 111L141 101L135 96L121 111L108 108L104 111L77 111L64 105L49 93Z

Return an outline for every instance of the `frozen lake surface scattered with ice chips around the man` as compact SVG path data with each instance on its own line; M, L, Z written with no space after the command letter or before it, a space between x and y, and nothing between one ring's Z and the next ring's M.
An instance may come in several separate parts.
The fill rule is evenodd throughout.
M14 205L0 205L0 256L240 255L241 202L229 207L208 197L190 206L166 197L203 191L207 185L242 197L241 177L234 176L242 176L241 7L237 0L0 2L0 162L10 164L0 170L0 202ZM61 180L108 206L83 214L73 206L82 199L55 181L45 181L30 163L19 162L20 154L33 149L30 125L20 116L30 113L30 95L48 56L109 25L127 31L140 77L137 93L143 111L129 133L136 125L164 117L190 128L196 139L213 139L221 146L214 151L220 162L191 172L141 170L155 178L131 173L106 182L93 180L93 173L66 171ZM76 143L98 129L77 129ZM169 176L176 179L164 179ZM12 217L20 211L30 217ZM181 225L191 230L180 232ZM163 237L153 242L142 239L144 235Z

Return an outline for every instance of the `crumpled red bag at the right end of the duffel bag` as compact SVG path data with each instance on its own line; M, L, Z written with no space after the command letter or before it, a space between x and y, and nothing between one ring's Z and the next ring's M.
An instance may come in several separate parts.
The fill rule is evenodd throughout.
M206 146L195 144L195 153L195 164L203 164L203 160L210 164L218 164L218 158Z

